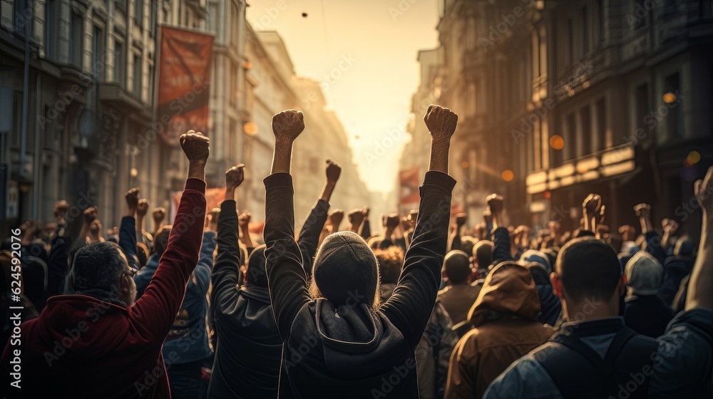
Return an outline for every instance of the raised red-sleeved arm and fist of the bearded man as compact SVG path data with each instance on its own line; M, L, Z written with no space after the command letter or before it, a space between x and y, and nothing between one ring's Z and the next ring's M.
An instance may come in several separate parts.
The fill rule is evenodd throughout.
M189 130L180 145L188 157L188 179L168 237L168 245L143 296L130 307L153 339L163 339L185 295L186 283L198 263L205 219L205 162L209 140Z

